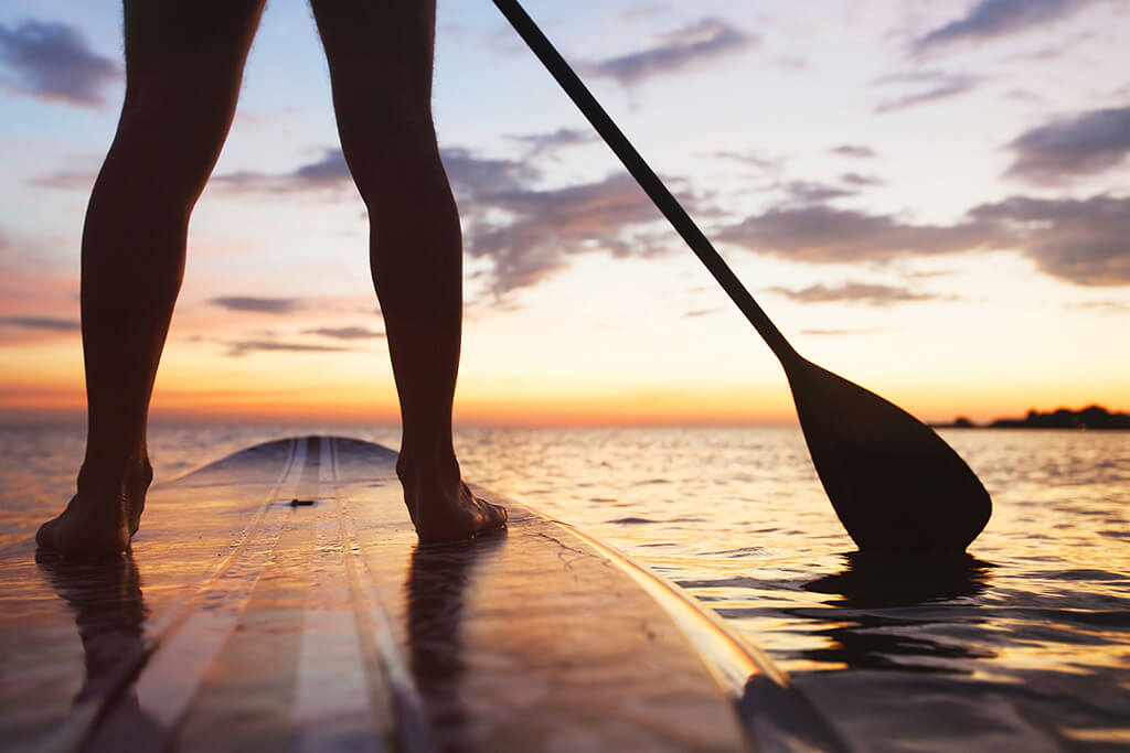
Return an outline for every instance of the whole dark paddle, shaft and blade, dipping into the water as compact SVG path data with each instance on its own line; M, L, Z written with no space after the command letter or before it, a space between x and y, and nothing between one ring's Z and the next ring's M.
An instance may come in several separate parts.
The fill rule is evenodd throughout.
M820 483L860 550L964 550L992 510L970 466L906 411L799 356L521 5L494 3L781 361Z

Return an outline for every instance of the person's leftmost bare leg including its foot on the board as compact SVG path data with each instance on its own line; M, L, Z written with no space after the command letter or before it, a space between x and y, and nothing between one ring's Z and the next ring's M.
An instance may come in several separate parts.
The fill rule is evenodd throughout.
M125 102L82 231L87 441L78 493L36 535L129 548L153 476L146 420L189 214L227 137L263 0L125 0Z

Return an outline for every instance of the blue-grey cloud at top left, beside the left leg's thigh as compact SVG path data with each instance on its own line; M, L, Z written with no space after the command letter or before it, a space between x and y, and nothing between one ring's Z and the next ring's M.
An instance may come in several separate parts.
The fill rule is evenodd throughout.
M0 64L8 91L80 107L101 106L103 87L121 78L119 64L92 52L67 24L0 24Z

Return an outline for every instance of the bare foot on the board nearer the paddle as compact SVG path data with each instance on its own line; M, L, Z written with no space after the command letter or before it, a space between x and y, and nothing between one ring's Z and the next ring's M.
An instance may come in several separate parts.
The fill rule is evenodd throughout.
M446 470L397 463L405 505L421 542L463 541L506 526L506 508L479 499L459 476L458 463Z

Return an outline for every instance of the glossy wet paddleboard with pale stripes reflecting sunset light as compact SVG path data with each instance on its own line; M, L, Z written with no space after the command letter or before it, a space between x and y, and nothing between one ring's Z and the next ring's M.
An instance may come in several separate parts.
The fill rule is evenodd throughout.
M843 750L756 649L568 525L476 487L508 529L419 545L394 462L268 443L151 489L129 557L0 551L0 750Z

